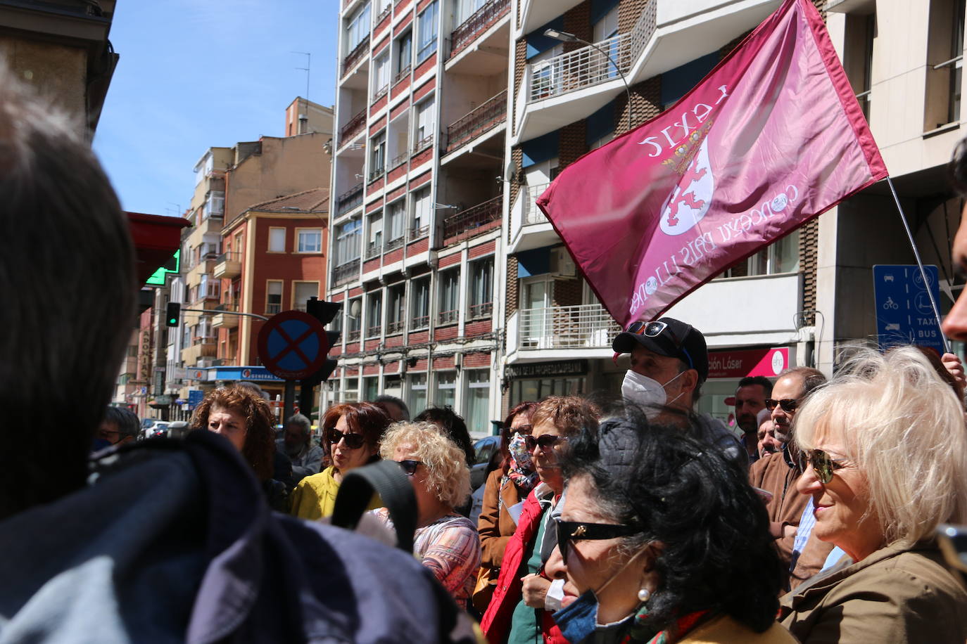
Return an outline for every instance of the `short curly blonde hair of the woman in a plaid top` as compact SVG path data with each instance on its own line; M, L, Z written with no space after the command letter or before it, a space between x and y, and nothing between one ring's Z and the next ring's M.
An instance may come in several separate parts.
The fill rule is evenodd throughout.
M409 445L414 461L426 468L426 489L451 508L462 505L470 496L470 468L463 450L441 434L439 427L427 422L401 422L390 426L379 446L379 454L392 461L396 447Z

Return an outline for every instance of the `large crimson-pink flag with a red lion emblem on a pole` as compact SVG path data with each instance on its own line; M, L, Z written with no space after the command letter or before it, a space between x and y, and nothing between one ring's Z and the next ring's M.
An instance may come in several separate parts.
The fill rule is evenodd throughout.
M786 0L689 94L571 163L537 203L628 324L886 176L822 18Z

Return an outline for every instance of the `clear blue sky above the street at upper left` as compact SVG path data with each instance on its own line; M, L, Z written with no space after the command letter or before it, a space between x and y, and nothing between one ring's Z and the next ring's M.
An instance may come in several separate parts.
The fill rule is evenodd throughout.
M308 98L332 105L337 23L338 0L118 2L121 60L94 150L125 210L176 214L206 149L281 136L306 94L306 56L292 51L312 54Z

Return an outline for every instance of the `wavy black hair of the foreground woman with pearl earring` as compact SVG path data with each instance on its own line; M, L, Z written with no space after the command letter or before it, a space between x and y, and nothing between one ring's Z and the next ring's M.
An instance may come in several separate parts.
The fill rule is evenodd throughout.
M689 420L695 425L697 419ZM599 441L612 432L610 440L624 440L630 451L615 456L621 453L612 450L602 459ZM561 464L565 481L589 477L606 517L643 526L622 544L628 552L663 545L655 564L658 590L648 602L652 628L702 609L724 612L757 632L776 621L785 573L765 504L746 471L716 447L679 427L650 425L630 409L571 438Z

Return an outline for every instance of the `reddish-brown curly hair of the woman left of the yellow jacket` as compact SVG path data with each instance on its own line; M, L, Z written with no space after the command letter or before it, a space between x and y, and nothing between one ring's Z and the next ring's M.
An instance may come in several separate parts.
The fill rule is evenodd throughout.
M194 415L191 416L192 429L208 429L208 414L213 406L230 409L245 416L246 434L242 458L251 465L255 478L259 481L271 479L275 471L273 460L276 452L276 416L269 404L249 387L237 384L220 387L205 396L194 410Z

